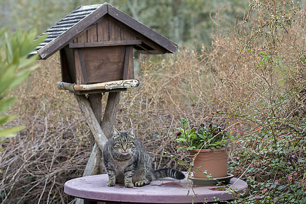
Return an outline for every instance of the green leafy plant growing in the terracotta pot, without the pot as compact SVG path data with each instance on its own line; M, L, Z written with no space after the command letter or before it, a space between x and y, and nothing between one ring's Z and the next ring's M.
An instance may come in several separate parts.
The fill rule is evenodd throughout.
M217 124L201 124L188 128L188 119L181 119L182 128L177 128L175 141L180 143L180 150L192 149L220 149L227 145L230 134L225 131L225 123Z

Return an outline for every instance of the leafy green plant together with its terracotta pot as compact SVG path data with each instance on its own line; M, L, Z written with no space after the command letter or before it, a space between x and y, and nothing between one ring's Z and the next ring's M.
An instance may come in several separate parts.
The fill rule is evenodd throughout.
M178 150L189 151L193 157L193 177L195 179L216 179L227 177L227 142L229 133L225 122L201 124L188 128L188 119L181 119L182 128L177 128L175 141L180 143Z

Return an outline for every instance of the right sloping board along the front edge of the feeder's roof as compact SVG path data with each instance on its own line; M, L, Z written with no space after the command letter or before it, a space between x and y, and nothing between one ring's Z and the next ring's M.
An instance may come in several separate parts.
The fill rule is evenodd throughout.
M171 40L167 39L166 37L160 35L159 33L151 30L148 26L142 24L141 22L135 20L129 15L126 15L119 9L113 7L112 5L108 4L108 14L113 18L121 21L125 25L133 28L135 31L139 32L140 34L144 35L148 39L154 41L155 43L159 44L163 48L167 49L169 52L174 53L177 50L178 45L172 42Z

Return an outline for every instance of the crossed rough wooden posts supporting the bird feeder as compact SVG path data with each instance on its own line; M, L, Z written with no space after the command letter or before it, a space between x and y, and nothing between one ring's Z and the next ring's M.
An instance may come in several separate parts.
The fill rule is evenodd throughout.
M88 99L85 95L74 95L86 122L95 140L89 160L85 167L83 177L97 173L101 167L102 150L107 140L111 137L111 131L116 119L120 101L120 92L110 92L105 108L103 121L101 121L101 94L90 94ZM83 204L83 199L77 198L76 204Z

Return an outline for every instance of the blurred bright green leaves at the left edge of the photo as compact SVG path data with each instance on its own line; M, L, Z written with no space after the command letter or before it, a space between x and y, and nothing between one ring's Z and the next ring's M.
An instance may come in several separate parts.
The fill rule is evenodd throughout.
M6 114L15 101L15 98L8 97L7 93L39 66L38 64L31 66L37 60L37 54L27 59L29 53L46 37L41 36L34 41L35 36L35 32L29 34L16 32L9 37L5 30L0 30L0 138L12 137L24 128L23 126L10 128L4 126L15 118ZM0 142L3 142L3 139L0 139Z

